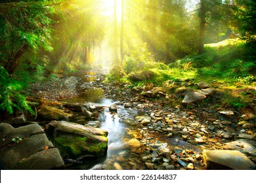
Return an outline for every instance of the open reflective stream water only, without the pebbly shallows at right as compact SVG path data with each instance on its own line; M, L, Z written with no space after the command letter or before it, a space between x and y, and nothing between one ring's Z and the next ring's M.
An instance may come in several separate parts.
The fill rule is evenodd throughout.
M87 82L82 84L88 85ZM115 161L114 157L125 156L129 154L130 149L125 146L124 139L130 139L129 131L138 127L123 123L123 120L133 120L137 114L136 110L123 108L118 106L117 113L110 112L109 107L116 102L104 98L104 92L98 88L86 88L78 97L65 99L68 103L91 103L93 105L104 107L104 112L100 113L98 120L100 121L100 129L108 131L108 150L106 156L83 158L83 163L70 165L67 169L115 169L112 164ZM128 161L129 159L127 159Z

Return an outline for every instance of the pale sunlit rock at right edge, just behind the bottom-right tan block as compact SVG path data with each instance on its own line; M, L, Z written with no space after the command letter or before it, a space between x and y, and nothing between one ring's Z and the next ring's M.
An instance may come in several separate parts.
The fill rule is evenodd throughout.
M256 142L247 139L239 139L238 141L225 143L223 149L225 150L239 150L247 154L247 156L256 157Z

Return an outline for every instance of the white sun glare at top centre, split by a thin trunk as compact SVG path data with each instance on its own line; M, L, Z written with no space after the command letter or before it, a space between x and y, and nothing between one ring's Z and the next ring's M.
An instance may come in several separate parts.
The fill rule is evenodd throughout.
M121 0L116 0L117 2L117 20L121 20ZM114 0L101 0L104 10L102 14L105 16L114 16Z

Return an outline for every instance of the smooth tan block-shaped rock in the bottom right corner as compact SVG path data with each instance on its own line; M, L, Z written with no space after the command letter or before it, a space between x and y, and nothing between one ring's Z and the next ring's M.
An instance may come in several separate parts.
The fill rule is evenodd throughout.
M238 150L203 150L207 169L251 170L256 165Z

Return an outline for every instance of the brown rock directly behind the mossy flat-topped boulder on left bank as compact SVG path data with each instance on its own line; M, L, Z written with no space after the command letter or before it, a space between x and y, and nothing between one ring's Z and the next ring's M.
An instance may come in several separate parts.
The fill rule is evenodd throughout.
M49 106L41 106L37 113L37 120L69 120L72 114L68 114L63 112L62 110L49 107Z

